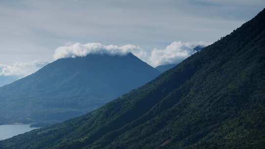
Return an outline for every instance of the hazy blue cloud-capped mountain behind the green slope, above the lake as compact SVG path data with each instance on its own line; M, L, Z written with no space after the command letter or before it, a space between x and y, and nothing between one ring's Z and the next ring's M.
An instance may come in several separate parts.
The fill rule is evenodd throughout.
M58 59L0 88L0 123L54 123L77 117L158 75L132 53Z

